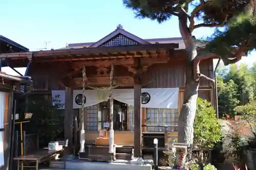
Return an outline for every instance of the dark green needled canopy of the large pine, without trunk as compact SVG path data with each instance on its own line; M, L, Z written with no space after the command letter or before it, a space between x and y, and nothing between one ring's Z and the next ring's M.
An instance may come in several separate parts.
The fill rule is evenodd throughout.
M256 25L249 0L123 0L123 4L134 10L136 17L160 23L172 16L181 18L185 15L185 20L189 21L185 28L183 26L187 34L202 27L224 27L208 38L208 54L203 58L215 55L221 57L225 65L239 61L256 45ZM195 24L195 20L201 23Z

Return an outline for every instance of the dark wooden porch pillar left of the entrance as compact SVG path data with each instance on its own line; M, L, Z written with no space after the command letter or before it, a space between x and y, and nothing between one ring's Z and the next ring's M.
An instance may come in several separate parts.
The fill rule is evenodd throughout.
M65 90L65 140L69 139L69 147L73 145L73 89L66 87Z

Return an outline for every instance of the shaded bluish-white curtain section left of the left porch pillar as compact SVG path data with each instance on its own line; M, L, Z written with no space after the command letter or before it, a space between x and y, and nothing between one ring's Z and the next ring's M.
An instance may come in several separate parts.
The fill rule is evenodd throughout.
M65 109L65 90L52 90L52 105Z

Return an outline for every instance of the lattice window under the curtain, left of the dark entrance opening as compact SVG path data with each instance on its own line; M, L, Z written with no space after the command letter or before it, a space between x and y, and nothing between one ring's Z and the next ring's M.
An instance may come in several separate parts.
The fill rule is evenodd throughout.
M87 112L86 130L97 131L98 105L87 107L86 112Z

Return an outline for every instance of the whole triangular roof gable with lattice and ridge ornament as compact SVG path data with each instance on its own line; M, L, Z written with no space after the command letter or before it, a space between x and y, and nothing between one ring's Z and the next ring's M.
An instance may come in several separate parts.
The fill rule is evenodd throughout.
M149 44L146 40L137 37L127 31L125 31L121 25L117 26L117 29L109 35L103 37L99 41L93 43L89 47L98 46L120 46L120 45L136 45L136 44Z

